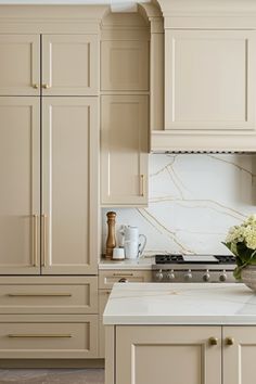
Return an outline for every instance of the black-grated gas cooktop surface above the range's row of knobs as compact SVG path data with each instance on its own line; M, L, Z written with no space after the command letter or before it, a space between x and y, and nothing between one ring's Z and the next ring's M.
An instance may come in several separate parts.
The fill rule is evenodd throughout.
M235 264L235 257L232 255L155 255L155 264L233 265Z

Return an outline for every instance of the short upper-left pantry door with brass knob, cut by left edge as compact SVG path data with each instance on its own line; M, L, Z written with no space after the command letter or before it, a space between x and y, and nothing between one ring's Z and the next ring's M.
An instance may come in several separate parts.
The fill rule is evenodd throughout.
M40 36L0 35L0 95L40 94Z

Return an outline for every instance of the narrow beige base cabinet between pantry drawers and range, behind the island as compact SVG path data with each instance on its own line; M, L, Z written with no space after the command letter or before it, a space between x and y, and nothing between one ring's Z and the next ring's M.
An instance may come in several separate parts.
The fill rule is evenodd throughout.
M99 272L99 357L105 358L105 327L103 312L111 290L117 282L145 283L152 281L151 270L100 270Z

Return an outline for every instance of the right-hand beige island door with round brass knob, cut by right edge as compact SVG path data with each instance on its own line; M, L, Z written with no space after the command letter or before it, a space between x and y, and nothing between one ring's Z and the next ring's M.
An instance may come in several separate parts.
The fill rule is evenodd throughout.
M223 384L254 383L255 356L255 327L223 327Z

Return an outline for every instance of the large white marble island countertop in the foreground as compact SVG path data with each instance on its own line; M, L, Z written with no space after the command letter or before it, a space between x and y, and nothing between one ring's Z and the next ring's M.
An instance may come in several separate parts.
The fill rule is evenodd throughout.
M242 283L117 283L103 323L256 325L256 294Z

